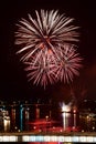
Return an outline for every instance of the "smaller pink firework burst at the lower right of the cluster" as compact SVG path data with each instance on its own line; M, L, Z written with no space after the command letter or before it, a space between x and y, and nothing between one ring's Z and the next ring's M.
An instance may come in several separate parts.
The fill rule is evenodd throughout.
M60 52L57 61L56 78L64 82L73 81L74 75L79 75L78 69L82 68L79 53L71 45L65 45Z

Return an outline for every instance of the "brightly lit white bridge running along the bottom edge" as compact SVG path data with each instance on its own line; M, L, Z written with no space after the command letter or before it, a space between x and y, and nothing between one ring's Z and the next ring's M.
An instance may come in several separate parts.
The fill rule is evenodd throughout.
M95 132L14 132L0 133L0 142L96 143Z

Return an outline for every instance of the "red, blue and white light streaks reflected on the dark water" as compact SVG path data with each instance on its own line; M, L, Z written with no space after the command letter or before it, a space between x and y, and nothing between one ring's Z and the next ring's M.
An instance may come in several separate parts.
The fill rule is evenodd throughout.
M40 111L40 107L38 105L34 107L28 107L28 106L23 107L21 104L18 107L17 106L11 107L9 112L10 119L4 121L3 131L4 132L32 131L34 130L33 127L42 125L42 122L43 122L44 128L47 128L50 126L50 130L57 126L57 127L62 127L63 131L66 131L66 130L70 130L71 127L77 126L76 113L72 113L72 112L58 113L57 115L61 117L61 120L56 122L53 119L52 111L50 109L49 111L46 111L45 109L45 112L46 114L45 113L42 114L42 111ZM41 122L40 125L35 124L35 122L38 121Z

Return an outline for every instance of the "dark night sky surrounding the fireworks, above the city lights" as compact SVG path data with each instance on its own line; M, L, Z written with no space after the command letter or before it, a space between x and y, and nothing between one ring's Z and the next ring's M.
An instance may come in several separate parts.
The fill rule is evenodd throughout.
M96 100L96 4L89 0L1 0L0 1L0 100L26 100L49 97L61 101L71 96L71 89L77 100ZM46 90L29 83L23 65L15 55L14 24L34 10L58 9L61 13L75 18L81 27L78 52L83 56L79 78L70 85L57 83Z

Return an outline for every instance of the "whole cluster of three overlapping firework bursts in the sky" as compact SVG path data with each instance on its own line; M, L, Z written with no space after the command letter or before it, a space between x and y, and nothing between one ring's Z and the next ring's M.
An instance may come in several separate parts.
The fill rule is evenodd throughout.
M15 44L22 47L17 53L26 65L29 80L44 88L56 81L70 82L78 74L81 58L74 45L78 32L74 19L58 11L38 11L36 19L21 19L15 32Z

